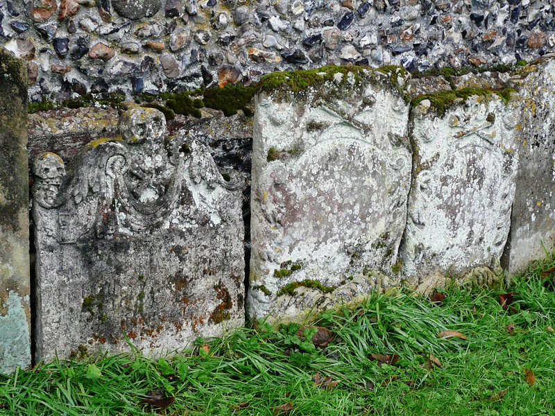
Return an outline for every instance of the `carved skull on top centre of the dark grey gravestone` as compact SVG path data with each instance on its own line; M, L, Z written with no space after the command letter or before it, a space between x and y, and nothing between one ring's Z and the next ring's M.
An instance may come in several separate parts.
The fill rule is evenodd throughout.
M164 114L154 108L133 108L119 119L119 131L128 144L142 144L156 140L166 132Z

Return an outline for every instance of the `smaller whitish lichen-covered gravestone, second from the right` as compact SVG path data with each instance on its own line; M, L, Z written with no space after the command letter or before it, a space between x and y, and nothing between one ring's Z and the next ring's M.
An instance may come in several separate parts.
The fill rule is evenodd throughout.
M415 155L401 253L409 284L423 293L443 286L446 275L459 283L495 281L511 224L513 106L485 91L450 94L438 97L453 100L444 114L430 99L411 112Z

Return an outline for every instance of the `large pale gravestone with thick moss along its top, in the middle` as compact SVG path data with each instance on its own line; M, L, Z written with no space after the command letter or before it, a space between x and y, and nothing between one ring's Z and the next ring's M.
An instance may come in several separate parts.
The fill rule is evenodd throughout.
M400 268L408 75L354 67L279 76L255 99L248 311L300 320L387 287L385 273Z

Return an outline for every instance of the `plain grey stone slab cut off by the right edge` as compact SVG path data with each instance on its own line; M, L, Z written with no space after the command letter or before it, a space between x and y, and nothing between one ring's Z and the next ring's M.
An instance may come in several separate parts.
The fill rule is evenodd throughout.
M542 59L513 78L519 157L511 233L503 266L522 272L555 248L555 60Z

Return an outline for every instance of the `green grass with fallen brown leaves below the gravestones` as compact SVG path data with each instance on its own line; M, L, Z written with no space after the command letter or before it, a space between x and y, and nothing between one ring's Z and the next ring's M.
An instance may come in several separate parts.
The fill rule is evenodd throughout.
M135 350L18 370L0 375L0 414L554 415L555 291L542 277L554 264L516 278L504 306L502 287L448 288L440 302L400 291L326 311L325 347L318 329L262 322L173 358Z

